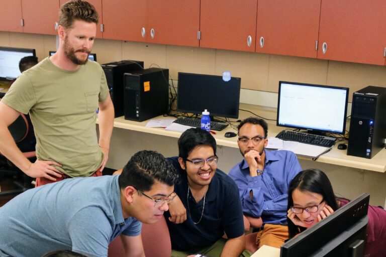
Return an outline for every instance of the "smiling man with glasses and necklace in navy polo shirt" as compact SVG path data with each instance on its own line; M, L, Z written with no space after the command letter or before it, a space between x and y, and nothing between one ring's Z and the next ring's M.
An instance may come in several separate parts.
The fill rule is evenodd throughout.
M241 202L236 184L217 169L216 140L200 128L189 129L179 138L178 151L169 158L181 177L174 185L178 197L164 213L171 255L240 256L245 248Z

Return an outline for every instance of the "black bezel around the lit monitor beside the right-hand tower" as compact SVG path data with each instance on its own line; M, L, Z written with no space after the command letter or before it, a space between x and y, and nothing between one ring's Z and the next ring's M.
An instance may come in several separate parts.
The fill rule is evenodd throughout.
M297 126L297 125L280 124L280 122L279 122L279 115L280 115L281 84L292 84L292 85L312 86L312 87L322 87L322 88L346 90L346 99L345 99L345 106L344 106L344 116L342 117L342 119L343 119L342 131L341 132L336 132L336 131L330 131L330 130L315 129L315 128L310 128L310 127L305 127L305 126L300 126L300 125ZM310 133L316 133L316 134L330 133L330 134L344 135L344 134L346 134L348 96L349 96L349 88L348 87L328 86L328 85L319 85L319 84L309 84L309 83L302 83L302 82L279 81L279 88L278 88L278 95L277 95L276 126L291 127L293 129L298 129L298 130L307 130Z

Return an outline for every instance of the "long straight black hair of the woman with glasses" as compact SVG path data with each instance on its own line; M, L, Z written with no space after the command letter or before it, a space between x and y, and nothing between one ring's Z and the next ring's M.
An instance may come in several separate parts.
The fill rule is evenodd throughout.
M294 199L292 198L292 193L295 189L320 194L323 196L323 200L328 205L330 205L334 211L339 208L330 180L328 179L327 175L321 170L309 169L301 171L300 173L298 173L298 175L295 176L291 183L289 183L287 210L294 206ZM293 238L296 234L305 230L305 228L295 225L288 217L287 223L289 238Z

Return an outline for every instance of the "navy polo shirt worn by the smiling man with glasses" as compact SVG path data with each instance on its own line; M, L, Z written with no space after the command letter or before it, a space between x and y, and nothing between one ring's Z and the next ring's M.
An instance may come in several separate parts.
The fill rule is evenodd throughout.
M169 227L171 248L175 250L195 250L210 246L219 240L224 232L228 238L236 238L244 234L244 221L238 189L235 182L224 172L217 169L209 184L206 194L203 218L198 222L203 211L204 199L196 203L189 194L187 199L187 176L178 163L178 157L168 158L174 165L180 182L174 185L174 192L186 208L187 220L181 224L169 221L170 213L164 213ZM189 209L187 207L189 201Z

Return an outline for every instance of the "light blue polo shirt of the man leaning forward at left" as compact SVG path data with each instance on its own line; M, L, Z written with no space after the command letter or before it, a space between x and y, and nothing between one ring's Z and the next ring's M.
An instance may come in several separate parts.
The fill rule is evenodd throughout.
M119 234L142 223L123 218L119 176L65 179L27 190L0 208L0 256L42 256L68 249L107 256Z

